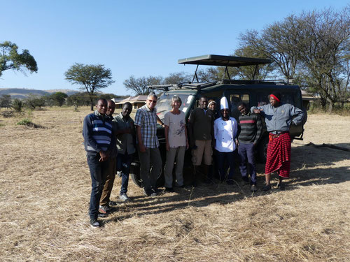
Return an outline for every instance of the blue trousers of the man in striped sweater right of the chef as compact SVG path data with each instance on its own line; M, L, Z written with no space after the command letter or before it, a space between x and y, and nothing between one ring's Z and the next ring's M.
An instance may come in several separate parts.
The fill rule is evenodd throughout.
M243 178L243 180L248 181L248 174L246 171L246 161L248 160L249 170L251 170L251 184L256 184L256 168L253 143L240 143L238 147L238 155L239 170L241 170L241 177Z

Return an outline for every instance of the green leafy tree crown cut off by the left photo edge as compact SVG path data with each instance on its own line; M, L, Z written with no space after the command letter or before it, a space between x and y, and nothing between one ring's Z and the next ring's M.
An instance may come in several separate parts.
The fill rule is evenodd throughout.
M0 76L3 71L13 69L25 73L27 69L30 73L37 72L38 66L34 57L27 49L18 53L18 46L10 41L0 43Z

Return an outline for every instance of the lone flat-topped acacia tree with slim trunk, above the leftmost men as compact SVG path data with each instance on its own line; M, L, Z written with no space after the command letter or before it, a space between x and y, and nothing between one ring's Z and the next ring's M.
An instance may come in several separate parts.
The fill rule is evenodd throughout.
M73 64L66 73L66 80L73 85L80 85L90 96L91 110L94 110L94 92L113 84L111 69L102 64Z

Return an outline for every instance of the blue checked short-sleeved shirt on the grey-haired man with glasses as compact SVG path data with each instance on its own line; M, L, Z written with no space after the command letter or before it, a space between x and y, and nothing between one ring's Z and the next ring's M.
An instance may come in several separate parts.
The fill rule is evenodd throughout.
M145 147L159 147L157 138L157 108L150 110L147 105L139 108L136 111L135 124L141 126L141 138Z

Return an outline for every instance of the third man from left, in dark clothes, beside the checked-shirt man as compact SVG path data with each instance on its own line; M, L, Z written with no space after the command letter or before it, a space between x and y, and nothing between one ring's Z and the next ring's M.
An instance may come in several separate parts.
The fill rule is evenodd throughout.
M134 120L130 117L132 104L127 102L123 105L123 110L114 117L113 122L117 125L117 171L122 177L122 186L120 187L120 200L130 201L127 196L127 185L129 183L130 164L135 150L135 129Z

